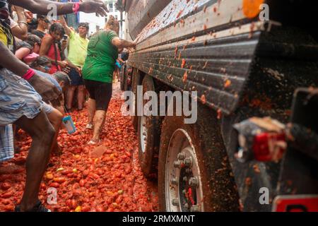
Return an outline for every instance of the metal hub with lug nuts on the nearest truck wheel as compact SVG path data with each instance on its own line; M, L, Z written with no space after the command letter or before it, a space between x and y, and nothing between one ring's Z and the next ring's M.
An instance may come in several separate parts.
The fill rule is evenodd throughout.
M187 131L179 129L172 135L165 175L167 211L204 211L198 160Z

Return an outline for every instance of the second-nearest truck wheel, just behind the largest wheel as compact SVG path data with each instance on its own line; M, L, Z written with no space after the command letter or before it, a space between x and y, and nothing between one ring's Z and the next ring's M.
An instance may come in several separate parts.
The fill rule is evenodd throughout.
M143 78L143 94L147 91L155 91L153 79L150 76ZM143 103L145 104L145 102ZM139 117L138 139L139 139L139 162L143 174L152 177L157 172L158 150L160 142L160 118Z

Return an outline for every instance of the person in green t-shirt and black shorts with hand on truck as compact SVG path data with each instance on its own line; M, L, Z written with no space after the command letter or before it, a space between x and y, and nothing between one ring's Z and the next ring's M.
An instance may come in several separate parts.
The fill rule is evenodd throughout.
M118 58L118 49L136 46L135 42L119 39L118 32L119 23L110 16L105 29L90 37L88 44L83 78L90 93L87 129L94 129L90 144L100 141L100 132L105 124L106 112L112 98L112 74Z

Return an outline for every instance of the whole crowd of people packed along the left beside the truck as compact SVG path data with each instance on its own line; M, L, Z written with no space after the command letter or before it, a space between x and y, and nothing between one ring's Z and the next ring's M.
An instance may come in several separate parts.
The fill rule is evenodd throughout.
M52 3L59 20L45 16ZM74 29L64 19L78 11L105 16L107 8L100 0L0 0L0 162L14 157L16 131L22 129L33 139L16 211L49 211L37 196L51 153L61 152L57 136L62 119L73 108L76 90L79 111L87 94L89 98L86 129L93 129L93 137L88 145L100 141L117 58L123 49L136 46L118 37L114 17L88 40L87 23Z

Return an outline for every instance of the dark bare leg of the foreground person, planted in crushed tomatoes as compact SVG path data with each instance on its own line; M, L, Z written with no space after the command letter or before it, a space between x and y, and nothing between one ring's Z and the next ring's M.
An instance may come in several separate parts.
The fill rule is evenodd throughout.
M26 162L25 189L20 203L20 210L31 210L38 201L40 184L49 162L49 154L54 139L54 128L44 112L34 119L21 117L16 121L32 138L31 148Z

